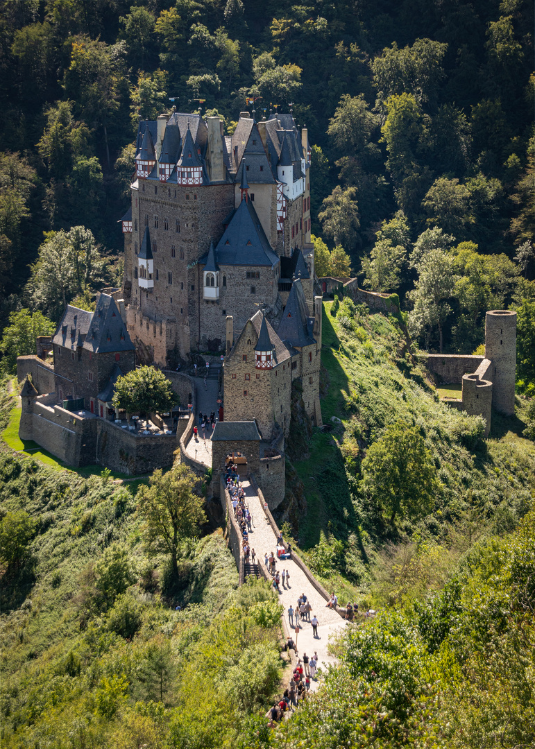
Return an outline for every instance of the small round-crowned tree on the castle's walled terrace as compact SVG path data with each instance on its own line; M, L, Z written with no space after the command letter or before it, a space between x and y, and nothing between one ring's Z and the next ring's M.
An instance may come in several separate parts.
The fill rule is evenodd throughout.
M155 413L169 411L178 401L167 377L150 366L142 366L118 377L113 395L113 407L127 413Z

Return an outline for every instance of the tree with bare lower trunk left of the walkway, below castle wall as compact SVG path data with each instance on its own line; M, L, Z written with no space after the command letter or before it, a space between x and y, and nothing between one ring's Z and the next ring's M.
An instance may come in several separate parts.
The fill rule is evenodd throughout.
M162 473L154 471L149 486L139 490L139 513L145 520L145 540L152 553L171 554L178 577L178 551L205 522L204 500L194 493L196 476L185 464Z

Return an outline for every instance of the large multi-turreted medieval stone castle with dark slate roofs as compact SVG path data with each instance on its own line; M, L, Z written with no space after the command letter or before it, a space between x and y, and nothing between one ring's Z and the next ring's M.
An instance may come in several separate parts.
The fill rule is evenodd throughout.
M225 422L235 426L214 432L214 455L242 439L254 444L250 460L271 462L278 478L267 498L279 501L296 380L303 409L321 425L309 167L306 128L299 132L290 114L257 122L241 112L232 136L220 118L198 113L141 122L131 206L121 219L122 288L100 294L94 313L67 306L38 356L20 357L19 377L32 375L22 389L21 437L74 465L157 467L153 438L131 434L112 407L115 381L136 362L154 364L181 403L192 404L195 381L175 368L221 358ZM190 460L192 428L190 416L172 440L162 429L159 444L179 443ZM160 464L170 461L162 449Z

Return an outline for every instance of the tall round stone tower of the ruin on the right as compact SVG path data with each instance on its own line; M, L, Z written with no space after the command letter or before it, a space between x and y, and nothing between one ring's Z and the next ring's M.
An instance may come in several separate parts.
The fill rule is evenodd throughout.
M485 320L485 357L492 365L492 407L506 416L515 413L516 312L493 309Z

